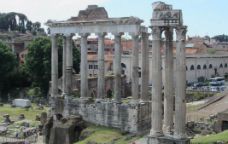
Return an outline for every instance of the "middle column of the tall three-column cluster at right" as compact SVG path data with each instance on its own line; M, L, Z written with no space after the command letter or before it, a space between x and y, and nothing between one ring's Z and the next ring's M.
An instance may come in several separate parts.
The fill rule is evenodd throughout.
M173 129L173 29L165 30L165 83L164 83L164 125L163 132L171 134Z

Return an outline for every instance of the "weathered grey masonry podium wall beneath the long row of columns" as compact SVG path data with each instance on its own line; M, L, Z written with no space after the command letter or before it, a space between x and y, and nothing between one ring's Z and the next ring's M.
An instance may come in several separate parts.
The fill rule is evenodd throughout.
M110 100L95 103L69 100L69 113L80 114L87 122L118 128L135 134L149 132L151 103L119 104Z

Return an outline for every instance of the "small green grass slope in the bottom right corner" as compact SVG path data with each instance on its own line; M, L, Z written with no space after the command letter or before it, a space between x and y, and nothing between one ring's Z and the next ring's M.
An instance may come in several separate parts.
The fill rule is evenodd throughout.
M224 131L222 133L201 136L191 140L192 144L213 144L214 142L222 141L228 144L228 131Z

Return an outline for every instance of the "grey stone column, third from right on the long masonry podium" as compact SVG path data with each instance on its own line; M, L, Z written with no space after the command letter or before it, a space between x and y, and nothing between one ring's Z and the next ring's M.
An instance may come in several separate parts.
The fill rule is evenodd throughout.
M115 36L115 58L114 58L114 101L121 102L121 35L122 33L116 33Z

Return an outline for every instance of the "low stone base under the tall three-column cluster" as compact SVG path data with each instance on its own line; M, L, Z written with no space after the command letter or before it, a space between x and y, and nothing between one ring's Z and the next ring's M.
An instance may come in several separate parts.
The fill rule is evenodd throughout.
M161 137L148 136L147 144L190 144L190 139L188 138L175 139L167 136L161 136Z

